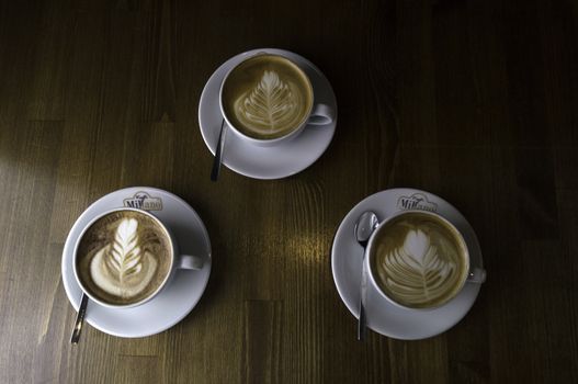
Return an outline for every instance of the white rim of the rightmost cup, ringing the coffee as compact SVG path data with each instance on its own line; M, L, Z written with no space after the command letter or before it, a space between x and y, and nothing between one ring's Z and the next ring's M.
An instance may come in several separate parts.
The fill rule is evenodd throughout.
M465 252L464 259L466 261L466 273L464 273L464 276L462 278L462 281L460 282L458 287L455 290L455 293L453 295L451 295L450 297L447 297L446 300L444 300L443 302L441 302L439 304L435 304L435 305L432 305L432 306L428 306L428 307L411 307L411 306L407 306L407 305L398 303L393 297L387 295L382 290L379 284L377 284L377 281L376 281L376 279L374 276L374 272L375 271L372 270L372 263L371 263L371 260L370 260L371 259L371 255L372 255L372 252L371 252L372 246L374 245L374 240L377 237L376 236L377 233L381 229L384 228L384 224L387 224L388 222L390 222L392 219L394 219L396 217L403 216L405 214L412 214L412 213L426 214L426 215L429 215L431 217L435 217L437 219L440 219L443 223L445 223L447 226L450 226L450 228L454 229L457 238L460 239L460 242L463 246L462 248L464 249L464 252ZM471 267L472 267L471 266L471 260L469 260L469 247L468 247L467 241L465 240L464 236L462 235L462 231L460 231L460 229L457 229L457 227L452 222L450 222L447 218L445 218L444 216L440 215L439 213L432 212L432 211L424 211L424 210L404 210L404 211L399 211L399 212L396 212L395 214L393 214L392 216L387 217L383 222L381 222L379 225L377 226L377 228L375 228L375 230L371 235L370 241L367 242L367 246L365 247L363 262L367 263L366 264L367 274L370 275L372 285L375 287L375 290L383 297L385 297L389 303L392 303L393 305L395 305L395 306L397 306L399 308L404 308L404 309L408 309L408 310L420 310L420 312L428 312L428 310L440 308L440 307L446 305L447 303L450 303L452 300L454 300L462 292L462 290L464 289L464 285L467 282L467 278L468 278L469 270L471 270Z

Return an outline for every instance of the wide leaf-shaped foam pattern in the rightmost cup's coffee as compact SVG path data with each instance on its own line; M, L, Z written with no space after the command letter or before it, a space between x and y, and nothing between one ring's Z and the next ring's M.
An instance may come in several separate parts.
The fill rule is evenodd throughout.
M460 280L458 267L446 257L455 252L443 237L408 229L400 247L390 249L377 266L389 294L410 306L423 306L447 294Z

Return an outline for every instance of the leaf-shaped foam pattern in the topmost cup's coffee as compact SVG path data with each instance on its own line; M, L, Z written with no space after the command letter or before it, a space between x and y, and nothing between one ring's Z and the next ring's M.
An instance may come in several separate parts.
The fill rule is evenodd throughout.
M265 70L253 89L234 104L237 117L259 134L275 134L296 125L302 118L301 92L291 81L283 81L274 70Z

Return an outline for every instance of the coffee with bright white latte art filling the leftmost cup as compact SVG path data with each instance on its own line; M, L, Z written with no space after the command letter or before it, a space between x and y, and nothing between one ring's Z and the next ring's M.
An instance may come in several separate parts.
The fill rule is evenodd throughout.
M77 247L77 274L95 298L138 303L165 283L172 267L169 234L137 211L112 212L94 222Z

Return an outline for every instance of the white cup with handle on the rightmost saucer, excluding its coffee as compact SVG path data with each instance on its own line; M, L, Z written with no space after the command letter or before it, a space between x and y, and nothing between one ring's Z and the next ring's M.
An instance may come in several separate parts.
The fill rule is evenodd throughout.
M377 271L374 270L373 262L372 262L372 258L376 257L376 252L374 252L377 246L376 239L378 238L382 230L387 229L387 224L389 222L392 222L393 219L399 218L400 216L412 214L412 213L419 213L420 215L430 216L434 218L435 221L439 221L445 224L454 233L455 237L457 238L460 242L461 249L464 250L463 261L465 263L464 268L467 270L467 273L463 275L463 278L461 279L458 283L458 287L454 291L454 293L452 295L449 295L443 301L443 303L440 303L439 305L432 305L432 306L427 306L427 307L410 307L410 306L403 305L398 303L396 300L394 300L393 297L390 297L386 292L384 292L384 290L377 283L377 279L379 278L377 278ZM373 231L373 234L370 237L367 247L365 248L365 257L364 257L363 262L364 262L364 266L363 266L364 270L366 271L366 274L367 274L366 276L369 278L369 283L373 286L373 289L375 289L375 291L377 291L382 297L384 297L386 301L388 301L393 305L400 307L400 308L410 309L410 310L427 310L427 309L434 309L437 307L443 306L446 303L451 302L453 298L455 298L463 291L466 283L467 284L481 284L486 281L486 271L481 268L481 266L472 264L467 242L465 241L462 233L455 227L455 225L453 225L449 219L446 219L445 217L441 216L438 213L422 211L422 210L400 211L392 215L384 222L379 223L377 228Z

